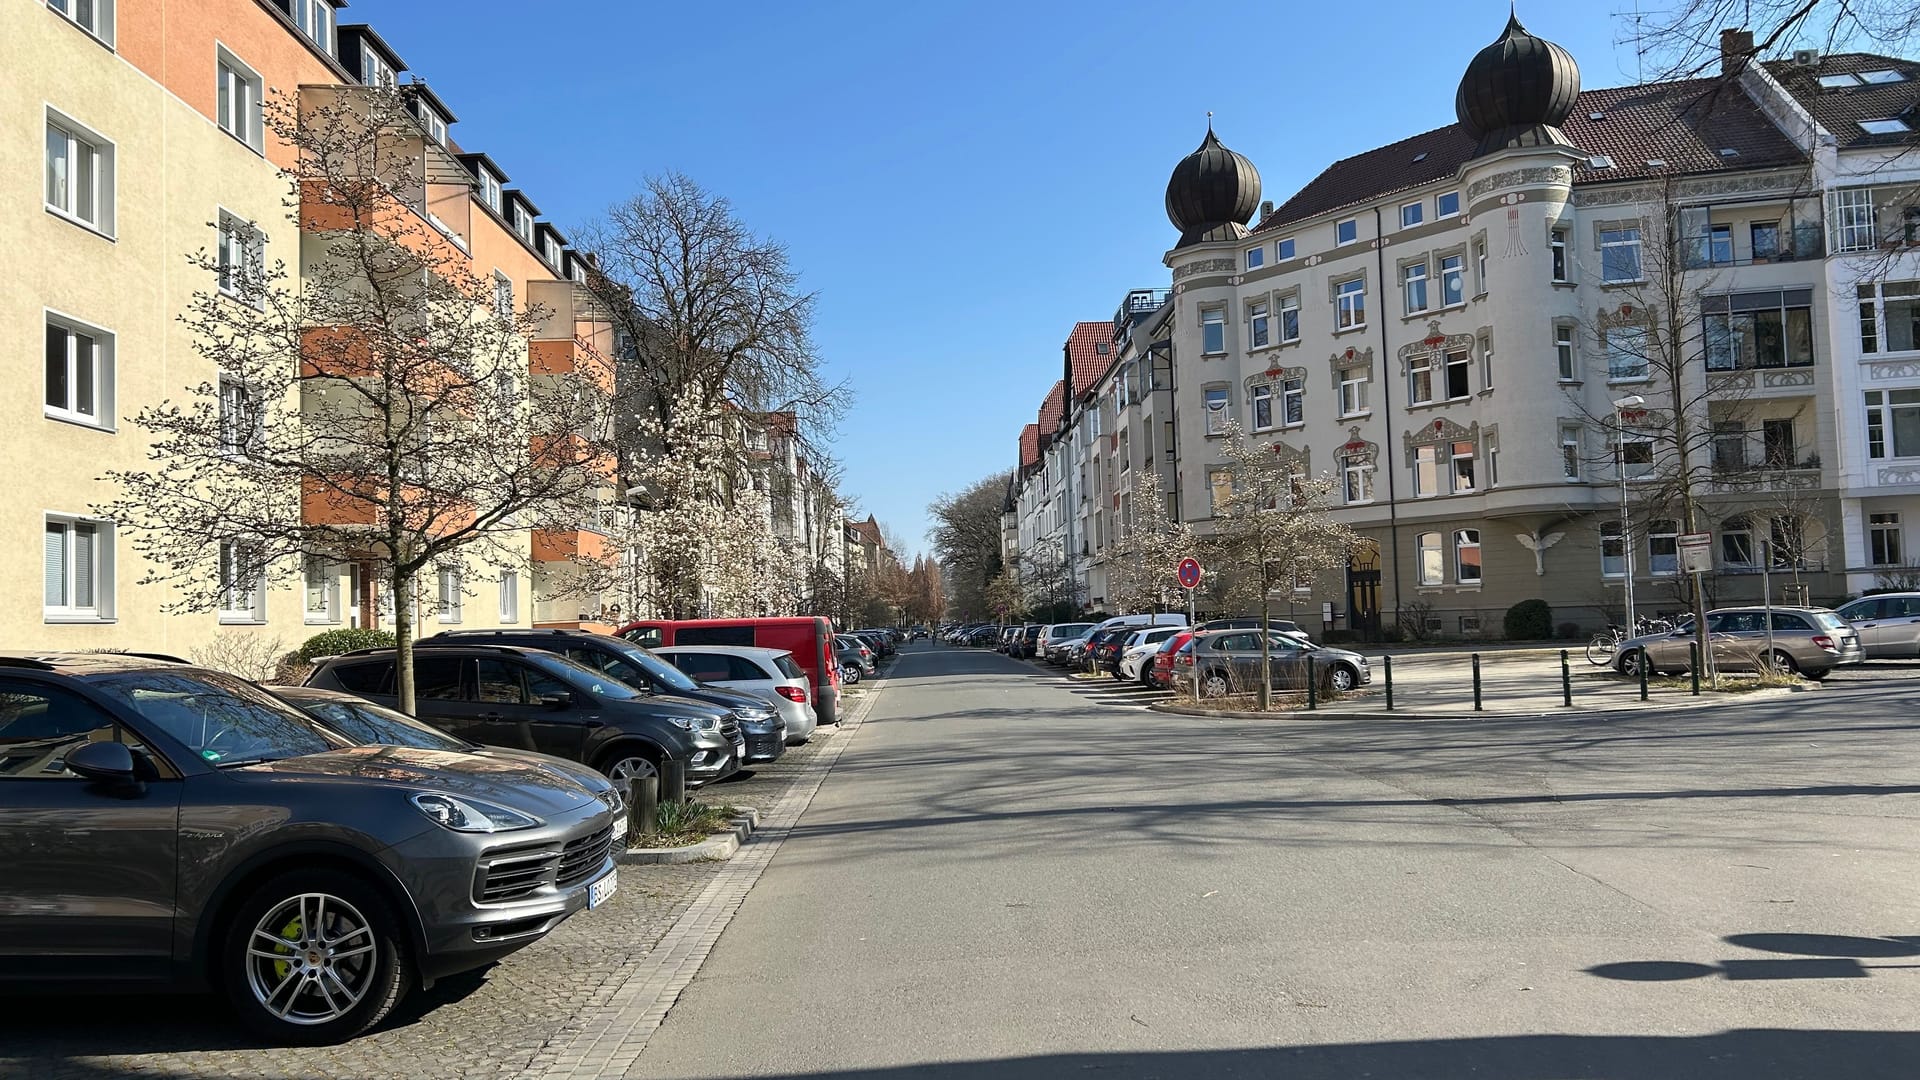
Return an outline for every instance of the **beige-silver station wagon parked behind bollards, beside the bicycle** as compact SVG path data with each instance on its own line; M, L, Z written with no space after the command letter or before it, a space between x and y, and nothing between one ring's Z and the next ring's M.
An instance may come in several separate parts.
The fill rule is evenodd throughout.
M1826 607L1772 609L1772 667L1799 673L1807 678L1826 678L1836 667L1860 663L1860 634L1837 611ZM1661 634L1642 634L1620 642L1613 653L1613 669L1620 675L1640 675L1640 657L1647 671L1682 673L1692 667L1693 623ZM1766 609L1716 607L1707 613L1707 642L1713 663L1720 671L1755 671L1766 665Z

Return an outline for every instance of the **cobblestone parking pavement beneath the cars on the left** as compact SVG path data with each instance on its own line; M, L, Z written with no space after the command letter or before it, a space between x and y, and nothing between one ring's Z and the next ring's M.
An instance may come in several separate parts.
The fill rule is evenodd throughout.
M780 761L695 798L764 813L841 738L847 734L820 728ZM576 1042L584 1017L605 1013L622 986L647 974L655 947L722 867L620 867L620 892L605 907L568 919L492 969L415 992L378 1030L336 1047L261 1047L217 997L0 999L0 1078L482 1080L543 1072Z

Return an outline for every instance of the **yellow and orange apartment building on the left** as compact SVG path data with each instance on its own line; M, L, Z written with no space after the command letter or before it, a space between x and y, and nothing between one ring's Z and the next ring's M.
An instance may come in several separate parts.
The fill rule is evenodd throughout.
M221 609L169 615L173 590L152 584L113 521L94 507L111 498L100 477L146 465L148 440L125 417L180 400L219 373L177 323L196 292L267 261L307 265L338 223L303 206L286 213L294 152L269 131L269 94L305 108L397 86L407 65L371 27L338 25L328 0L15 0L0 38L0 115L13 146L42 148L44 169L15 171L0 186L10 213L0 244L17 282L0 298L0 325L15 342L44 342L42 407L13 400L0 461L15 494L0 534L15 552L42 536L42 559L0 571L13 598L0 617L0 648L142 648L190 651L215 634L248 632L288 646L336 625L390 619L378 575L351 555L298 573L259 573L221 552ZM426 221L474 273L492 275L501 306L538 304L549 317L528 348L526 379L603 365L607 319L580 288L584 256L509 186L486 154L461 148L453 111L424 83L405 86L417 119L420 196L405 208ZM188 258L217 252L211 275ZM25 352L25 350L21 350ZM19 357L21 363L25 357ZM611 371L601 375L611 380ZM232 407L244 407L244 388ZM223 392L223 407L228 396ZM609 498L612 494L609 463ZM338 513L338 507L303 507ZM564 592L564 567L597 542L599 523L532 532L518 569L449 563L413 598L422 630L528 621L576 625L593 598ZM234 580L227 582L225 575ZM252 578L252 580L250 580ZM42 596L33 609L31 596Z

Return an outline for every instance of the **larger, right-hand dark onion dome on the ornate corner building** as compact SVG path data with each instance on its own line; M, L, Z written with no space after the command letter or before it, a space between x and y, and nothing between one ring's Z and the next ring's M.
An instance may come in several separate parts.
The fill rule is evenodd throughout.
M1580 65L1565 48L1526 33L1513 13L1507 33L1467 65L1453 111L1478 140L1473 156L1484 158L1515 146L1571 146L1559 125L1578 96Z

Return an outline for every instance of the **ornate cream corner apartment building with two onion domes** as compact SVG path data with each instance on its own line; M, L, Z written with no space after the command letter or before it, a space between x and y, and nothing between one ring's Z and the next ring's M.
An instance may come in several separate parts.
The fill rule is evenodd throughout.
M1803 58L1816 83L1820 63ZM1167 186L1181 515L1206 528L1236 421L1331 475L1369 538L1290 598L1325 628L1498 632L1528 598L1590 626L1620 619L1628 578L1642 611L1674 611L1684 523L1653 494L1678 467L1655 436L1678 390L1711 425L1692 461L1709 596L1759 598L1763 569L1774 596L1845 594L1864 575L1845 573L1862 559L1839 450L1887 450L1841 369L1882 369L1855 359L1818 146L1776 119L1793 98L1766 71L1580 90L1513 19L1467 65L1459 123L1336 161L1258 219L1258 171L1208 131ZM1680 342L1678 384L1655 340Z

